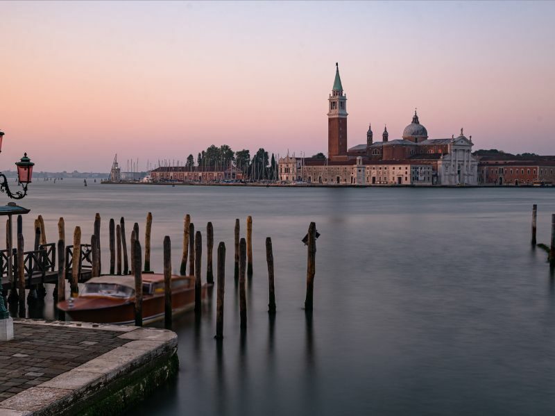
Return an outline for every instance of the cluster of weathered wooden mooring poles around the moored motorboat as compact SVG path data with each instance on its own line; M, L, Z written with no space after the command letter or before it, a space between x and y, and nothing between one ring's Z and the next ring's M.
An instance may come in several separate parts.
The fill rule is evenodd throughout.
M534 211L535 212L535 211ZM554 216L555 218L555 216ZM146 215L146 226L144 233L144 261L142 258L142 247L139 238L139 224L133 224L130 234L130 258L128 258L125 219L121 217L119 224L115 224L110 218L108 225L108 238L110 248L110 273L109 275L132 274L135 278L135 325L142 326L142 302L143 285L142 275L153 273L151 270L151 229L152 213ZM11 248L11 228L6 228L6 242L8 249ZM535 233L535 231L534 231ZM239 284L239 315L241 329L247 326L247 303L246 303L246 278L253 276L253 217L246 218L246 238L241 238L241 226L239 219L235 219L234 228L234 280ZM314 276L316 274L316 238L318 238L316 224L310 223L308 233L302 242L307 245L307 292L305 299L305 310L311 311L314 297ZM187 275L187 260L189 262L188 275L194 276L194 310L200 315L202 301L202 254L203 236L200 231L195 232L195 226L191 222L191 216L185 215L183 227L183 249L180 261L180 275ZM51 247L49 251L49 247ZM19 302L19 316L25 316L24 295L26 287L29 289L29 299L37 298L37 289L43 292L44 283L55 283L56 288L53 297L57 301L65 300L65 281L69 281L71 297L79 294L78 283L87 281L88 278L101 276L101 216L96 213L94 217L94 232L90 237L90 244L83 244L80 226L76 226L73 235L73 245L65 245L65 221L63 217L58 220L58 244L47 244L44 219L39 215L35 220L35 250L31 256L18 256L24 253L24 238L22 233L22 216L17 217L17 250L13 253L17 256L17 278L12 278L10 303ZM56 249L58 251L58 269L54 269L56 262ZM213 251L214 251L214 227L212 222L206 226L206 283L214 285ZM171 240L169 235L164 237L164 322L167 328L171 327ZM24 253L28 255L29 253ZM49 257L50 256L50 257ZM24 263L27 262L27 263ZM33 262L35 262L33 264ZM83 263L89 263L90 269L85 269ZM123 265L122 265L123 263ZM275 305L275 274L272 240L266 238L266 263L268 265L268 313L276 313ZM10 263L11 265L11 263ZM40 283L33 283L33 272L42 265L42 279ZM46 266L51 268L52 279L44 278ZM28 285L26 276L28 274ZM223 338L223 299L225 294L225 243L219 242L216 252L216 339ZM19 293L18 293L19 291ZM62 311L59 311L60 319L64 319Z

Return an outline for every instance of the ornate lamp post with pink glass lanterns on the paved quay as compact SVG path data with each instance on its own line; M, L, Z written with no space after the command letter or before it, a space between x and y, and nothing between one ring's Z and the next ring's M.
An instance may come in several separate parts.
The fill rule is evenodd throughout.
M0 152L2 151L2 140L3 140L3 131L0 131ZM8 186L8 178L6 175L0 172L0 192L5 192L8 197L11 199L22 199L27 194L27 186L31 183L31 178L33 176L33 166L35 163L31 162L31 159L27 157L27 153L19 160L19 162L15 163L17 166L17 178L19 184L22 185L22 190L17 192L12 192L10 187ZM12 215L13 214L20 214L20 213L28 213L26 208L19 207L15 205L15 203L9 203L6 207L1 207L0 215L8 215L9 217L9 235L10 241L8 241L8 274L11 275L12 272L12 242L11 242L11 235L12 235ZM11 277L11 276L10 276ZM2 285L2 276L0 274L0 341L7 341L13 338L13 322L12 318L10 317L10 313L6 310L6 303L4 303L3 296L1 294L1 290L3 290Z

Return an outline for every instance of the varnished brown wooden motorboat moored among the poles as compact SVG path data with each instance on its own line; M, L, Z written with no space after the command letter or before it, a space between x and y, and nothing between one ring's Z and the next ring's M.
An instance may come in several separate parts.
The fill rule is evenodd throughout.
M143 324L164 319L164 275L143 274ZM206 299L207 285L202 287ZM180 313L194 308L194 276L171 276L171 310ZM135 278L100 276L85 283L78 297L58 303L74 321L99 324L135 324Z

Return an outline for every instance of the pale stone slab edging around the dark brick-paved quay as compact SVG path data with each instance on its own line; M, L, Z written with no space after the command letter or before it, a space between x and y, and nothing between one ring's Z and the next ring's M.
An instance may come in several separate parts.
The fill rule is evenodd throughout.
M178 337L166 329L35 319L17 322L119 331L118 338L129 342L0 402L1 416L117 415L178 371Z

